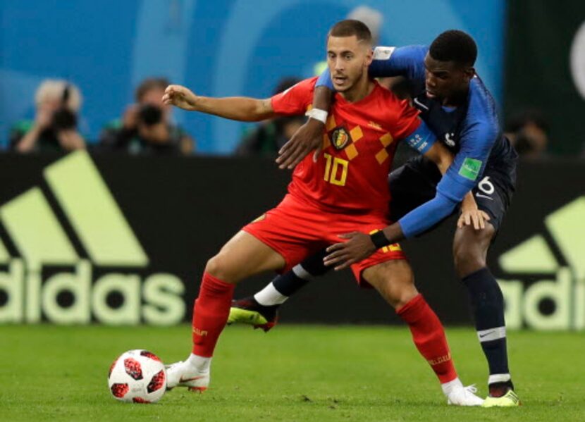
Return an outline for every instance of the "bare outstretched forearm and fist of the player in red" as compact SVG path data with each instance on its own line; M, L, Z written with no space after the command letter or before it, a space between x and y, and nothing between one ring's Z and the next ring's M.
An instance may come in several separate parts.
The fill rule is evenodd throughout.
M187 111L199 111L244 122L257 122L276 117L270 99L202 97L181 85L168 85L164 92L163 102Z

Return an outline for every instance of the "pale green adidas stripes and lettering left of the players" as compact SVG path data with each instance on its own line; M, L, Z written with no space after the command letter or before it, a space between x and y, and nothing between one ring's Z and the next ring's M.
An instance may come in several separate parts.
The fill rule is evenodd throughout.
M172 273L133 271L147 267L149 258L90 156L70 154L43 175L87 256L80 256L41 188L0 206L6 235L20 252L11 256L0 240L0 263L7 267L0 273L0 322L38 323L43 316L54 323L90 323L92 317L112 325L182 321L182 281ZM96 277L94 268L118 269Z

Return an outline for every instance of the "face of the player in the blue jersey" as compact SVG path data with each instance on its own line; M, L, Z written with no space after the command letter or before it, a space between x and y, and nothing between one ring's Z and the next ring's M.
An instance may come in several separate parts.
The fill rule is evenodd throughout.
M427 54L424 58L426 96L443 104L467 92L473 68L462 68L453 61L440 61Z

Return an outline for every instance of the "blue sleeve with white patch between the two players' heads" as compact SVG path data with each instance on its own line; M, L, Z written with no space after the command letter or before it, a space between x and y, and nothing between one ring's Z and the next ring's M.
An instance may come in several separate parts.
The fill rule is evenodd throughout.
M424 81L424 57L428 46L381 47L374 49L374 60L369 67L371 77L404 76L409 80Z

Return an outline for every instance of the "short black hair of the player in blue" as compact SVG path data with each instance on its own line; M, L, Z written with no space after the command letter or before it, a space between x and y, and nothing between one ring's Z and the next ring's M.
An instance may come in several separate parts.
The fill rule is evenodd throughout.
M460 30L448 30L435 38L429 49L438 61L455 61L462 66L474 66L477 46L474 39Z

